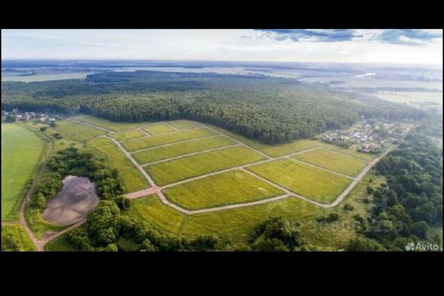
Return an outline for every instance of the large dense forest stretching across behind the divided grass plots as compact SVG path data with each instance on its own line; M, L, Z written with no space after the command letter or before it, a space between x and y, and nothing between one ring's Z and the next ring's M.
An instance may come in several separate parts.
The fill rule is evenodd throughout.
M105 72L85 80L2 82L3 110L83 112L112 121L191 119L263 143L343 129L359 116L422 119L420 110L289 78Z

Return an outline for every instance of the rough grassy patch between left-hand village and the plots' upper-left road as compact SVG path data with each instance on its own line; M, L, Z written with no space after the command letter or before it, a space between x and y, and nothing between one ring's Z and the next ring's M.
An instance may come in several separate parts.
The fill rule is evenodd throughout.
M56 128L48 128L46 134L60 134L62 139L74 141L86 141L102 134L106 134L104 130L98 128L90 128L87 125L75 123L73 121L61 120L56 122Z

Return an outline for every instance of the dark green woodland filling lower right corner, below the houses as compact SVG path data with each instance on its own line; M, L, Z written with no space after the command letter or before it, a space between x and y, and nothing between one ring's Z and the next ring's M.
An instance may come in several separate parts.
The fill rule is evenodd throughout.
M442 247L442 237L432 229L443 225L443 150L418 132L420 128L408 134L376 165L387 182L368 187L371 216L355 217L364 237L350 241L348 250L404 251L408 243L426 241Z

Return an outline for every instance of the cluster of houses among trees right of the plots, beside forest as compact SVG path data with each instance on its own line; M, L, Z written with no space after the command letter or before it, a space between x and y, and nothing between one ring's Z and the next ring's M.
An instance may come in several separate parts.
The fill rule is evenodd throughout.
M367 121L364 116L361 121L349 130L334 130L318 136L318 139L343 147L352 147L364 153L379 154L390 143L398 143L405 137L409 127L402 123L377 123Z

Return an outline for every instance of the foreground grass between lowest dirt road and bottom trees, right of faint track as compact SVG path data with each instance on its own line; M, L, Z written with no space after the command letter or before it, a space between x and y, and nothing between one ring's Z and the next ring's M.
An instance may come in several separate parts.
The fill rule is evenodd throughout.
M180 234L185 236L226 235L235 242L245 243L250 230L259 223L263 223L268 217L282 216L289 220L302 222L321 216L325 211L325 209L304 200L287 198L253 207L188 216Z

